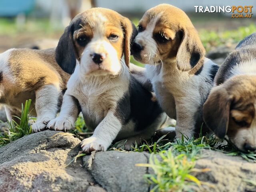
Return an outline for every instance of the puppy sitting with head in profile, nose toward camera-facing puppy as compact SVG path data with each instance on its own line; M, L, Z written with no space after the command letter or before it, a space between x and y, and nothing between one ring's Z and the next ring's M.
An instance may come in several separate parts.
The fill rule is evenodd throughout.
M204 46L185 12L169 4L146 11L132 54L146 64L146 76L162 109L177 120L176 138L199 132L202 105L218 66L204 57Z

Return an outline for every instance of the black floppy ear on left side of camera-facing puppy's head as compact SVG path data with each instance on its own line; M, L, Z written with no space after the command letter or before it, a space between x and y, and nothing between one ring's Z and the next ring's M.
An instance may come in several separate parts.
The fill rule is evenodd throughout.
M72 74L76 67L76 56L73 42L72 27L67 26L60 37L55 50L55 59L65 72Z

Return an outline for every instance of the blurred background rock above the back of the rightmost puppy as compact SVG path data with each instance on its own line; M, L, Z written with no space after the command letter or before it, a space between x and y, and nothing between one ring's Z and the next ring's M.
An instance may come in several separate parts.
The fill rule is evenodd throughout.
M227 44L216 47L214 50L210 50L206 53L206 57L209 59L226 58L228 54L234 50L236 44Z

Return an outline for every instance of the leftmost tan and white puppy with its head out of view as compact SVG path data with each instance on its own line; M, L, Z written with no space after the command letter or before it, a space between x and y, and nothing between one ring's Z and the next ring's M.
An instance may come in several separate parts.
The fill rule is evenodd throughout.
M69 74L55 60L55 49L9 49L0 54L0 103L8 121L21 115L21 103L31 99L32 130L44 130L56 117ZM17 121L17 119L15 119Z

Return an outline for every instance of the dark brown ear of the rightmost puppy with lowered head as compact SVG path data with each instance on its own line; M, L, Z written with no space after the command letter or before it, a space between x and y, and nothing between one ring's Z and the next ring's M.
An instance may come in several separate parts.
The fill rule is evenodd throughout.
M204 123L218 138L224 138L227 134L232 100L233 96L220 85L212 89L204 103Z

